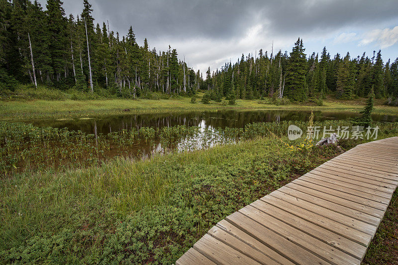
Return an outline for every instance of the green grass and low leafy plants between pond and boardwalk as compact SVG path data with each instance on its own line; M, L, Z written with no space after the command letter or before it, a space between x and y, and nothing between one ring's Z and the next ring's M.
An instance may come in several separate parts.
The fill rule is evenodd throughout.
M0 185L0 262L172 264L225 216L339 153L292 152L278 139L255 138L13 174Z

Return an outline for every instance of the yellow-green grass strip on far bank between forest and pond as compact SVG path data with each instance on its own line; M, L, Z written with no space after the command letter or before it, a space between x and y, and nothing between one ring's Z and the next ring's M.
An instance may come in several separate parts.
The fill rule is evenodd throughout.
M203 93L199 93L199 98ZM216 111L220 109L293 109L293 110L323 110L323 111L359 111L364 106L364 99L336 100L332 97L324 100L323 106L314 103L275 105L269 100L237 99L236 105L228 105L226 101L210 104L191 103L190 97L177 99L86 99L86 100L2 100L0 101L0 119L23 120L37 118L67 118L95 117L103 115L128 113L160 113L186 111ZM375 104L374 113L398 114L398 107L382 105L383 100ZM123 111L129 109L128 112Z

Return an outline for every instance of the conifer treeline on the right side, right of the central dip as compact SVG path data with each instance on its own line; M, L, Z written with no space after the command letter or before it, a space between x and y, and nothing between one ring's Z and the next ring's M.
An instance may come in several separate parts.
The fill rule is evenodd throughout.
M253 99L263 96L289 98L293 101L317 100L326 94L336 98L352 99L367 96L371 88L377 98L398 96L398 58L390 64L383 63L381 51L373 57L365 55L351 59L350 54L333 58L323 48L320 56L304 53L301 39L292 52L277 54L260 50L258 55L249 54L235 64L226 63L221 70L207 70L205 86L218 98L232 96ZM217 97L217 96L216 96ZM398 102L395 102L398 104Z

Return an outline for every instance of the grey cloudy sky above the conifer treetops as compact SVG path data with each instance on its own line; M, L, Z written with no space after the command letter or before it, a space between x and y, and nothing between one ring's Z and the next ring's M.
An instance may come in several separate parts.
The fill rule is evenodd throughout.
M166 50L170 44L190 67L205 71L259 49L290 52L298 37L306 53L398 57L397 0L89 0L96 22ZM46 0L40 0L45 7ZM83 0L64 0L80 14Z

